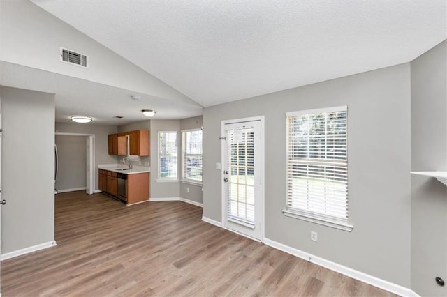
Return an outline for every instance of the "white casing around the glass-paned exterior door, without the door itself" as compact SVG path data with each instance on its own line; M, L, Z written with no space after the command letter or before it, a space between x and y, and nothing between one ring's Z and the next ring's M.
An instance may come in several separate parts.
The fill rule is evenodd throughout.
M261 160L260 160L260 171L261 171L261 242L263 242L264 238L265 238L265 152L264 152L264 148L265 148L265 142L264 142L264 135L265 135L265 128L264 128L264 121L265 121L265 117L264 116L251 116L249 118L242 118L242 119L232 119L232 120L225 120L225 121L221 121L221 137L225 137L225 125L226 124L231 124L231 123L244 123L244 122L251 122L251 121L260 121L261 123L261 139L260 139L260 154L261 154ZM247 236L245 234L242 234L240 232L237 232L233 229L229 229L226 226L226 214L225 214L225 195L226 195L226 191L225 191L225 182L223 181L223 164L225 164L225 142L222 141L221 142L221 220L222 220L222 227L223 229L227 229L228 231L232 231L234 233L240 234L242 236L248 237L250 239L254 239L256 241L258 241L258 239L256 238L252 238L250 236ZM256 162L256 161L255 161Z

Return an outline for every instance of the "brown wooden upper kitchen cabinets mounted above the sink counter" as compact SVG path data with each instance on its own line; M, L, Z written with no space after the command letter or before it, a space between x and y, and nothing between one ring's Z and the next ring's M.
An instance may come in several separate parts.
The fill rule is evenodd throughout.
M134 130L109 135L109 155L127 155L127 139L129 136L129 155L150 155L149 130Z

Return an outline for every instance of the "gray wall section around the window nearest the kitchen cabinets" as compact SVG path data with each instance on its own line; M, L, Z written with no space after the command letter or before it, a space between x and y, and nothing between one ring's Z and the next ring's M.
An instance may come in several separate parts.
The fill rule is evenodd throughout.
M179 120L151 120L151 197L167 198L180 197L179 181L175 182L159 182L159 153L158 153L158 137L159 131L177 131L177 137L180 137L180 121ZM178 142L180 144L180 142ZM179 146L180 148L180 146ZM178 159L179 161L180 159ZM177 172L180 173L180 162ZM180 177L180 176L179 176Z

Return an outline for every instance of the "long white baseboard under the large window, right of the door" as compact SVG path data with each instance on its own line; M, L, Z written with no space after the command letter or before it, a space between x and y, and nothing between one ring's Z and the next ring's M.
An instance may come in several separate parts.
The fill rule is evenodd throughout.
M284 245L282 243L272 241L271 239L264 238L263 243L265 245L271 246L272 248L276 248L277 250L281 250L288 254L292 254L295 257L305 259L306 261L312 262L318 266L323 266L324 268L328 268L331 271L335 271L337 273L342 273L343 275L352 277L353 279L360 280L361 282L365 282L367 284L371 284L374 287L378 287L380 289L390 291L391 293L394 293L394 294L397 294L400 296L418 296L418 294L416 294L411 289L402 287L399 284L393 284L392 282L388 282L387 280L381 280L379 277L374 277L372 275L368 275L366 273L356 271L352 268L334 263L332 261L323 259L321 257L314 256L313 254L309 254L307 252L302 252L301 250L291 248L288 245Z

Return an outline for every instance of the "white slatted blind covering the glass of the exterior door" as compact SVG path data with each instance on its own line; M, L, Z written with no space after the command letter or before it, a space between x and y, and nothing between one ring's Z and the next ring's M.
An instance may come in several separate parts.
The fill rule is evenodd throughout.
M254 128L226 131L228 220L254 227Z

